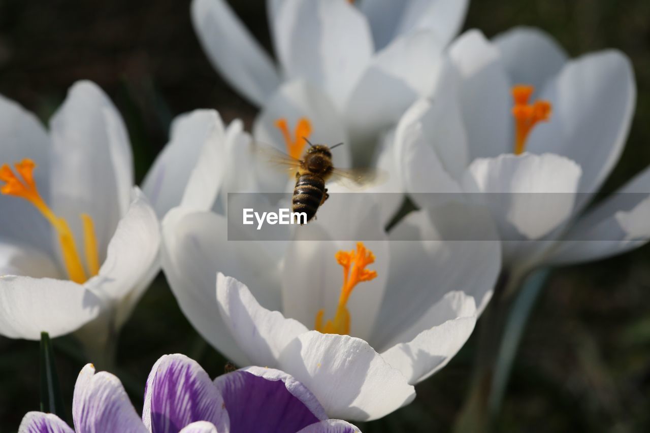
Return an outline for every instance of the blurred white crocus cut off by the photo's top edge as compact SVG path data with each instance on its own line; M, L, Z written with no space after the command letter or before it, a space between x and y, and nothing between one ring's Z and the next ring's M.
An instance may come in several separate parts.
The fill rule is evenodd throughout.
M359 148L431 89L468 3L268 0L278 64L224 0L194 0L192 22L213 66L242 95L264 107L283 86L304 81L339 111Z

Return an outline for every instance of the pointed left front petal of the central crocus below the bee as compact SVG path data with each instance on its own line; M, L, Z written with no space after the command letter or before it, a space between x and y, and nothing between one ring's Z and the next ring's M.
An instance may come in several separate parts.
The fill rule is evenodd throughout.
M216 275L216 298L235 341L254 364L277 367L292 339L307 332L302 323L261 307L246 285L221 272Z

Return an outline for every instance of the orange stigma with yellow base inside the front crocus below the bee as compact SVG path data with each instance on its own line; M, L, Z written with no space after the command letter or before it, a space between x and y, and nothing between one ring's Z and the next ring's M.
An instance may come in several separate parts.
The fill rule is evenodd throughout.
M336 308L336 315L330 321L323 324L324 309L316 313L314 329L323 334L350 334L350 312L346 307L354 287L358 283L370 281L376 278L376 270L365 269L374 263L374 254L367 250L362 242L357 242L357 249L352 251L339 251L336 253L336 261L343 267L343 285L339 296L339 306Z

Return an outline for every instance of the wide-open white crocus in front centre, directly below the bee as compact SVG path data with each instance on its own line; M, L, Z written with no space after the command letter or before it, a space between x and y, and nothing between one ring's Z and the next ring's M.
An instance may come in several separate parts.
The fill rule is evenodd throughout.
M497 242L440 241L424 212L385 235L370 196L351 197L332 194L282 253L273 241L227 241L224 215L172 209L162 263L185 315L227 358L282 366L328 415L363 420L411 401L413 384L465 343L500 251ZM487 221L447 223L490 231Z

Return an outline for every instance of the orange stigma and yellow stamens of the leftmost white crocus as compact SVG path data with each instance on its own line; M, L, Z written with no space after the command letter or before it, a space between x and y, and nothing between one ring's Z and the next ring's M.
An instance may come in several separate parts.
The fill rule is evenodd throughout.
M83 283L88 280L88 277L86 276L86 271L81 263L81 257L79 257L79 254L77 253L77 247L75 245L72 231L68 226L68 222L63 218L57 217L38 193L36 181L34 181L34 177L32 176L34 167L36 167L34 161L27 158L23 159L23 161L20 161L19 163L15 163L14 168L16 173L21 177L21 179L19 179L8 164L1 166L0 181L4 181L5 185L0 188L0 193L27 200L27 202L32 203L32 205L40 211L43 217L52 224L52 227L55 228L59 235L59 244L61 246L63 261L70 280L75 283ZM83 222L86 265L88 265L90 276L94 276L99 272L99 252L97 249L94 224L90 215L85 213L81 214L81 220Z

